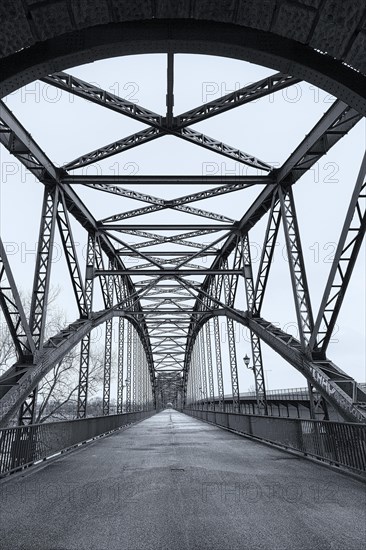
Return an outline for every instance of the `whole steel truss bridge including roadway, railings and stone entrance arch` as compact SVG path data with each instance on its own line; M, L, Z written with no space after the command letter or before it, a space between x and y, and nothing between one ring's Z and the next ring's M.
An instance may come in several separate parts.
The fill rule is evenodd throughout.
M0 37L0 154L11 155L43 192L30 304L23 297L23 273L7 254L8 228L0 239L1 315L16 352L14 364L0 371L1 548L361 548L366 388L348 366L332 360L330 341L362 252L366 154L358 176L345 182L353 192L343 205L340 234L333 237L337 246L320 300L308 285L304 205L297 195L295 201L294 189L364 124L365 2L2 0ZM166 60L162 112L73 70L140 54ZM272 74L178 112L180 54L246 61ZM143 129L113 142L101 140L92 151L81 140L83 154L58 166L7 100L37 81L61 90L70 103L75 97L92 103L106 120L128 117ZM335 100L281 166L259 158L255 140L246 150L199 130L197 123L239 108L245 112L254 101L290 92L301 82ZM77 124L72 120L70 134ZM249 124L243 131L250 133ZM229 159L248 175L153 175L149 169L150 175L112 177L83 171L144 144L163 144L166 136ZM347 160L353 167L351 154ZM166 192L146 191L154 186ZM11 229L19 235L31 224L20 219L17 207L24 197L14 188L17 200L1 206L6 214L16 211ZM105 206L103 197L113 208L100 219L95 212L99 201ZM238 219L237 208L215 211L214 205L229 199L246 205ZM132 209L120 206L132 201ZM34 218L33 209L29 216ZM251 244L260 229L261 255L254 265ZM77 249L81 234L85 258ZM264 313L275 298L272 264L282 235L297 337ZM61 283L71 283L77 314L49 334L49 298L60 282L54 269L51 273L58 243L68 271L68 281ZM95 417L88 398L97 327L103 327L105 341L103 414ZM250 395L239 384L237 327L250 337L251 357L245 358L255 380ZM266 391L264 346L297 369L307 387ZM77 419L35 423L37 388L79 348ZM319 467L319 461L331 468ZM25 471L40 463L44 467ZM340 469L354 478L339 475ZM18 471L21 475L13 475Z

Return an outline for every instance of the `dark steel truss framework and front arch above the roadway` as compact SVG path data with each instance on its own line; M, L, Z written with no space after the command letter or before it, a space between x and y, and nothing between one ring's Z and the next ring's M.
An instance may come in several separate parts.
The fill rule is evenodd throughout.
M258 414L268 412L261 350L262 343L265 343L305 376L310 392L317 396L313 403L314 414L321 411L323 418L327 418L327 404L330 404L344 420L365 422L364 389L332 361L327 350L365 234L366 156L356 181L349 182L350 185L353 183L354 191L341 234L337 237L337 249L317 310L312 307L301 246L297 216L301 204L295 204L293 194L297 182L362 120L366 112L364 65L353 49L356 39L360 44L360 36L364 36L361 28L364 9L354 15L357 21L348 41L345 39L348 46L342 49L335 45L333 51L329 39L331 55L325 55L320 31L318 33L316 29L324 26L332 36L326 23L328 7L325 5L328 2L322 3L323 12L321 8L304 6L313 20L313 38L306 40L301 38L299 28L294 30L292 39L287 31L286 34L279 2L273 2L278 6L272 14L272 31L267 29L265 32L264 27L258 31L248 20L243 23L246 26L244 34L241 32L242 23L235 26L234 19L230 24L220 22L221 12L216 6L219 3L215 2L212 3L216 6L214 22L205 20L204 16L201 23L197 21L199 12L192 6L200 2L192 2L189 14L178 16L171 13L169 24L164 21L160 8L156 8L152 18L145 14L142 17L146 19L144 23L138 18L135 23L124 23L124 12L118 8L122 2L110 2L106 18L108 21L112 18L111 22L100 27L93 26L93 12L89 8L82 16L72 2L62 2L67 4L68 17L71 18L71 26L65 30L70 40L63 39L64 32L52 31L51 15L56 12L52 12L51 7L48 15L43 15L49 18L47 24L51 30L49 34L40 30L41 6L38 4L44 3L23 2L22 7L19 4L18 16L23 21L23 28L27 29L24 34L27 38L24 38L23 45L23 35L18 33L16 39L15 35L10 36L9 30L0 61L1 95L4 97L17 87L40 79L72 96L92 102L100 109L118 113L121 119L129 117L146 127L113 143L101 143L98 149L85 151L78 158L57 167L22 122L1 102L1 146L37 178L44 190L28 317L17 288L17 274L12 272L3 244L0 246L0 303L17 352L16 364L0 378L1 426L6 427L16 416L20 425L33 422L39 382L78 344L81 344L81 356L77 412L79 418L87 416L91 331L101 324L106 327L103 414L109 415L111 334L115 317L119 323L118 413L161 408L168 403L178 408L194 409L202 402L207 409L223 411L223 359L219 332L219 318L222 317L227 323L234 412L239 411L234 334L234 326L238 323L250 333ZM160 4L162 2L156 2L157 6ZM186 3L182 4L185 6ZM239 21L243 16L240 15L241 2L236 4L235 17ZM265 9L258 7L259 11ZM1 16L7 21L9 13ZM194 20L189 21L190 17ZM249 13L247 17L251 17ZM219 43L212 38L212 33L220 29L223 38ZM259 41L261 32L267 38L265 43ZM134 39L134 36L139 38ZM79 42L76 37L80 38ZM359 45L358 51L360 48ZM118 97L76 78L67 70L72 65L107 55L154 51L166 53L166 112L163 113ZM279 72L194 109L177 113L174 110L174 59L179 52L231 55L277 68ZM242 151L193 128L198 122L250 105L302 80L321 86L338 99L279 168L258 158L255 144L252 151ZM174 136L177 140L254 168L258 175L127 177L75 173L77 169L163 136ZM177 190L188 184L200 188L204 185L205 190L186 195L177 191L174 198L139 192L139 186L145 188L156 184ZM80 187L95 191L95 200L98 200L98 194L109 193L115 196L115 204L118 204L119 197L123 197L134 199L139 207L127 211L118 211L116 207L104 219L96 219L92 214L92 204L85 204L78 195ZM247 188L258 189L258 194L239 220L232 219L230 213L218 214L199 207L200 201L205 200L207 204L208 199L227 194L231 194L235 201L236 193ZM195 222L149 223L150 213L165 210L188 214L190 220L194 216ZM84 264L76 252L71 218L80 224L87 236ZM251 231L263 219L266 228L262 254L258 270L254 270L250 252ZM286 239L292 285L289 292L292 292L296 310L298 339L278 328L276 319L262 317L263 301L270 299L267 285L280 226ZM56 233L62 241L79 317L60 333L45 340ZM132 244L128 241L131 237ZM135 267L127 267L126 260L130 258L134 259ZM242 282L246 299L244 310L237 305L238 288ZM104 309L101 311L95 311L93 307L97 285L100 285L103 296Z

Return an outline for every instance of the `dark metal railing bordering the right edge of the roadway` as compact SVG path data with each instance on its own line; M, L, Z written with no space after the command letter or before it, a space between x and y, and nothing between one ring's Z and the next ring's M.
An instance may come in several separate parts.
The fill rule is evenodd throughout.
M184 409L218 426L366 475L366 424Z

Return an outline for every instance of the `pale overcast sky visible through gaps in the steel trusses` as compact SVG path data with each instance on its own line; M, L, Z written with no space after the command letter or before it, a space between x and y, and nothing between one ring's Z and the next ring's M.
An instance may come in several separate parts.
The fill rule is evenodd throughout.
M70 69L72 74L165 114L166 56L128 56L98 61ZM209 56L175 56L175 114L218 98L274 71L237 60ZM244 105L194 126L259 159L280 166L296 145L330 107L333 98L307 83ZM31 132L51 160L62 165L81 154L106 145L144 128L144 125L82 99L62 93L40 82L30 84L8 98L6 103ZM295 186L294 194L300 222L302 245L307 266L314 313L317 313L327 279L348 201L352 194L366 144L365 122L361 121ZM9 253L18 286L31 289L36 241L42 204L43 186L3 148L1 186L1 233ZM255 174L244 165L173 137L160 138L123 155L106 159L98 166L75 173L89 174ZM133 188L133 185L129 186ZM204 187L202 187L203 189ZM206 187L207 188L207 187ZM139 208L143 203L99 193L81 186L76 191L97 219ZM164 198L199 191L198 186L135 187L137 191ZM240 219L261 189L251 188L193 206ZM131 220L137 223L142 219ZM198 218L165 210L149 215L151 223L199 223ZM144 220L145 221L145 220ZM265 217L251 231L254 269L267 222ZM204 220L203 220L204 223ZM72 221L80 259L86 235ZM130 236L123 236L133 242ZM201 241L204 241L204 237ZM59 243L57 237L56 243ZM271 270L263 317L278 322L287 332L294 332L296 316L282 229ZM155 247L156 248L156 247ZM77 317L71 284L60 247L56 246L52 284L60 285L59 305L66 309L69 320ZM126 259L126 266L132 266ZM82 271L84 271L82 262ZM329 357L358 381L365 380L365 253L362 250L339 315L335 334L329 346ZM243 285L239 286L238 307L244 309ZM101 306L96 298L95 309ZM102 331L99 332L102 335ZM224 330L222 337L224 338ZM238 362L240 390L253 385L252 375L245 371L242 357L250 352L245 329L238 327ZM224 345L225 350L225 345ZM304 386L304 378L263 346L266 378L270 389ZM228 360L224 361L225 365ZM225 392L229 393L228 370L225 370Z

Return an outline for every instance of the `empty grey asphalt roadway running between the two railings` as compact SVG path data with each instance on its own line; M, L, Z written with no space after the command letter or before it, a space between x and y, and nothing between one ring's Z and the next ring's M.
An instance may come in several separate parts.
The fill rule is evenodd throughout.
M361 550L365 485L167 410L0 483L1 550Z

